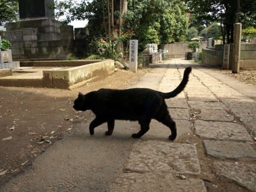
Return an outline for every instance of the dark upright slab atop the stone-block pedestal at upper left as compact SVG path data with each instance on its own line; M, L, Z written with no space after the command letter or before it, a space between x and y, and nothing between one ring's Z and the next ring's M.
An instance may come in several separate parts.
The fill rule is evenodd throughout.
M19 0L20 19L35 17L54 19L54 10L47 7L49 3L54 3L54 0Z

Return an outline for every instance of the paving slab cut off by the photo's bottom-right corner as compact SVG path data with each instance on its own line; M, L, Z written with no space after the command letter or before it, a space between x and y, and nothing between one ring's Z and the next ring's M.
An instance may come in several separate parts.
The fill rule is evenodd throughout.
M256 191L255 164L214 162L213 166L218 176L236 181L236 183L250 191Z

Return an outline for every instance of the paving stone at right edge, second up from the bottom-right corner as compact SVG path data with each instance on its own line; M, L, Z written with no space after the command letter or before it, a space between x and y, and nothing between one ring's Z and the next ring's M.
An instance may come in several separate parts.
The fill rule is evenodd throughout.
M232 159L250 157L256 159L256 152L248 143L204 140L204 146L206 153L213 157Z

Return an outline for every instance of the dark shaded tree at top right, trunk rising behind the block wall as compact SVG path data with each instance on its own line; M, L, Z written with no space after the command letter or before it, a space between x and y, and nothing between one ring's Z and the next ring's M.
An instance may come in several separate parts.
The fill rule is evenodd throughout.
M185 0L190 12L200 13L198 19L221 23L222 39L233 43L233 24L255 16L255 0Z

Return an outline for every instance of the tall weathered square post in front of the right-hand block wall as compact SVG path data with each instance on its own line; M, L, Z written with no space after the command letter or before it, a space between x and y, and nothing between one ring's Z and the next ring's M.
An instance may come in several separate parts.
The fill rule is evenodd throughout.
M239 73L240 52L241 52L241 34L242 34L242 24L235 23L234 24L232 73Z

